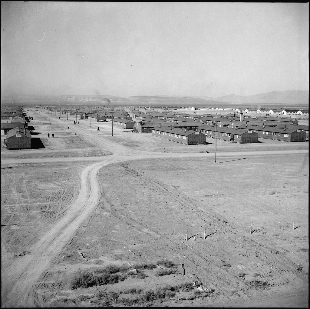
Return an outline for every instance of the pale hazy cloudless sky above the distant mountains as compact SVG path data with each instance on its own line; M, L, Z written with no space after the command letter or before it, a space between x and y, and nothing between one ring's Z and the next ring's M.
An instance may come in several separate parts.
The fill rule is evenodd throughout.
M1 2L2 95L308 90L308 3Z

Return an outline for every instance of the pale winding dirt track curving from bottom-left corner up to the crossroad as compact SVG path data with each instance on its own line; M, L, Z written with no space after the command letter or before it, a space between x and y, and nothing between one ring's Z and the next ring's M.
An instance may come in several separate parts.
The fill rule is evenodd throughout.
M82 172L81 190L66 215L51 230L33 244L31 255L18 258L2 275L2 304L5 307L33 307L34 287L41 273L64 245L74 236L97 205L100 188L98 170L108 162L95 163ZM61 245L60 245L61 244Z

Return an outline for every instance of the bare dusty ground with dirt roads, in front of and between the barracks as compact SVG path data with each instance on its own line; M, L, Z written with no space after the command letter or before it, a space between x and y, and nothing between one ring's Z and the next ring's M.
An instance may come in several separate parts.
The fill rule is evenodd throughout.
M215 163L212 140L29 116L45 148L2 151L2 307L308 307L308 142L218 141Z

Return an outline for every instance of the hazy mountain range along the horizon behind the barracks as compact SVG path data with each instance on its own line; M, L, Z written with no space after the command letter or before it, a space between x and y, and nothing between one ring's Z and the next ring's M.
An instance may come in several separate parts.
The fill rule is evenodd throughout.
M230 94L223 97L187 97L187 96L132 96L121 98L111 95L59 95L59 96L42 96L42 95L17 95L2 98L2 103L8 102L40 102L43 104L79 104L95 103L97 105L145 105L145 106L223 106L230 104L243 104L249 107L253 104L265 105L307 105L309 104L309 90L286 90L272 91L264 94L255 94L250 96L240 96Z

